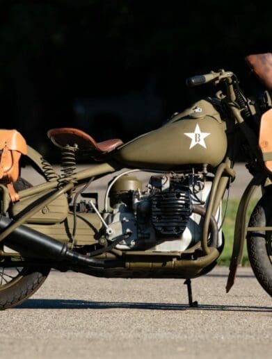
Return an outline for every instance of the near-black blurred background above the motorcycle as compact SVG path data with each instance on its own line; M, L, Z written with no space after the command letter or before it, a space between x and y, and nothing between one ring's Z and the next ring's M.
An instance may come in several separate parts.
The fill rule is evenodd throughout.
M185 79L271 51L272 4L253 1L0 1L0 116L49 157L46 131L129 140L207 95Z

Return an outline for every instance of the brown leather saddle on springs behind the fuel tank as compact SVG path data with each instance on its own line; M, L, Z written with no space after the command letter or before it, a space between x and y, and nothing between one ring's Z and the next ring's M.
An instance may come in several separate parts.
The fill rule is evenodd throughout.
M69 146L77 148L79 151L95 152L95 154L109 153L123 144L122 140L118 138L96 142L88 133L69 127L52 128L47 135L61 149Z

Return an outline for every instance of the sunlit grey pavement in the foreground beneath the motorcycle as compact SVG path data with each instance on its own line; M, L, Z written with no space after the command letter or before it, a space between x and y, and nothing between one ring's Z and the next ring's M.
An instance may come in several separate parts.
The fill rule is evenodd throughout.
M225 294L227 268L193 280L105 279L51 272L1 312L0 358L271 358L271 297L249 268Z

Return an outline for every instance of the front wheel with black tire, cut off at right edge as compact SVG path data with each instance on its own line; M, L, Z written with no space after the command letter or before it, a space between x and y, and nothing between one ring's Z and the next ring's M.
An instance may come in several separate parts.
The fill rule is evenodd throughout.
M266 192L259 200L250 217L249 226L261 227L272 224L272 192ZM257 281L272 297L272 232L256 231L247 235L248 258Z

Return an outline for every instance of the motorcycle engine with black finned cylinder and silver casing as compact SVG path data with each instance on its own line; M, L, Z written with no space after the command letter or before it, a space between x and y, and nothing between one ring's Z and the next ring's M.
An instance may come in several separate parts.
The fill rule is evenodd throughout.
M201 239L203 222L193 212L193 204L205 208L211 183L203 174L193 172L163 174L151 176L143 191L138 178L120 177L109 194L113 209L106 218L113 230L109 240L126 235L116 246L122 250L184 251L192 247ZM216 221L220 227L221 208Z

